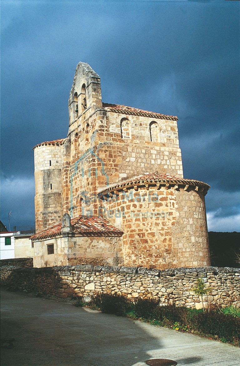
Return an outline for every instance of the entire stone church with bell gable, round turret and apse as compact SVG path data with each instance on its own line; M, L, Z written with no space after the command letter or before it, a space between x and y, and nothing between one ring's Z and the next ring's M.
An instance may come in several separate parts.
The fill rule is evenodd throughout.
M34 266L210 265L206 183L183 178L177 117L102 102L77 65L65 139L34 150Z

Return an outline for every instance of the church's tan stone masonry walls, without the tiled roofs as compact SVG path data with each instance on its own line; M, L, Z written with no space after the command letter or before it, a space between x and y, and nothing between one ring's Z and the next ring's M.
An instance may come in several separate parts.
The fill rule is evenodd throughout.
M178 188L166 188L159 190L158 202L99 202L97 196L102 189L138 175L158 171L183 177L177 117L124 108L113 111L102 104L99 75L88 64L80 62L69 97L68 138L59 146L52 141L34 148L36 231L60 223L64 213L69 213L71 218L101 216L99 208L103 208L113 225L124 231L121 243L124 261L118 261L115 255L117 261L109 262L106 255L98 264L154 266L162 270L170 266L210 265L205 203L200 193L186 192L186 187L178 191ZM124 209L126 218L108 217L115 208ZM136 216L148 209L152 214L159 214L159 210L168 212L173 208L175 212L170 212L167 218L146 220ZM107 240L102 242L103 247L108 247ZM68 258L64 252L63 258L52 257L50 265L76 265L77 254L81 252L75 249L82 247L73 246L74 249L64 246L62 250L68 251ZM81 263L97 264L95 258L100 254L97 248L93 253L92 247L83 253ZM54 247L54 253L57 254L58 248ZM37 255L44 257L47 248L40 249L43 250ZM87 257L89 252L91 259ZM44 265L49 261L50 257L39 258Z

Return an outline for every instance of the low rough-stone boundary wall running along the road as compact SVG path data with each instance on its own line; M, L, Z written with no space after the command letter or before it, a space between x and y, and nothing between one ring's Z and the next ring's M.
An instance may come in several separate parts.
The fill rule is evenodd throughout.
M119 294L134 300L159 298L163 304L175 302L191 308L202 306L199 296L190 290L198 277L203 278L210 294L203 296L207 304L240 306L240 269L177 268L167 270L143 267L109 267L76 265L48 268L1 268L1 284L9 288L39 292L58 298L80 297L90 300L99 292Z

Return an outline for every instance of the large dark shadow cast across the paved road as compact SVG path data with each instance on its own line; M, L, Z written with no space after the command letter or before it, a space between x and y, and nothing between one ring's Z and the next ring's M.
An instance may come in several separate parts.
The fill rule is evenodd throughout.
M139 322L67 303L1 291L1 365L126 365L149 359L161 348Z

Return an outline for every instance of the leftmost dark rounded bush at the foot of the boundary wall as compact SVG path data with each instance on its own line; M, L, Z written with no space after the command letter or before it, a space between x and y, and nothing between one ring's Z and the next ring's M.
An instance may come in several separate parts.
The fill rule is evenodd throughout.
M91 305L97 306L102 313L123 315L129 309L130 301L117 294L100 293L92 299Z

